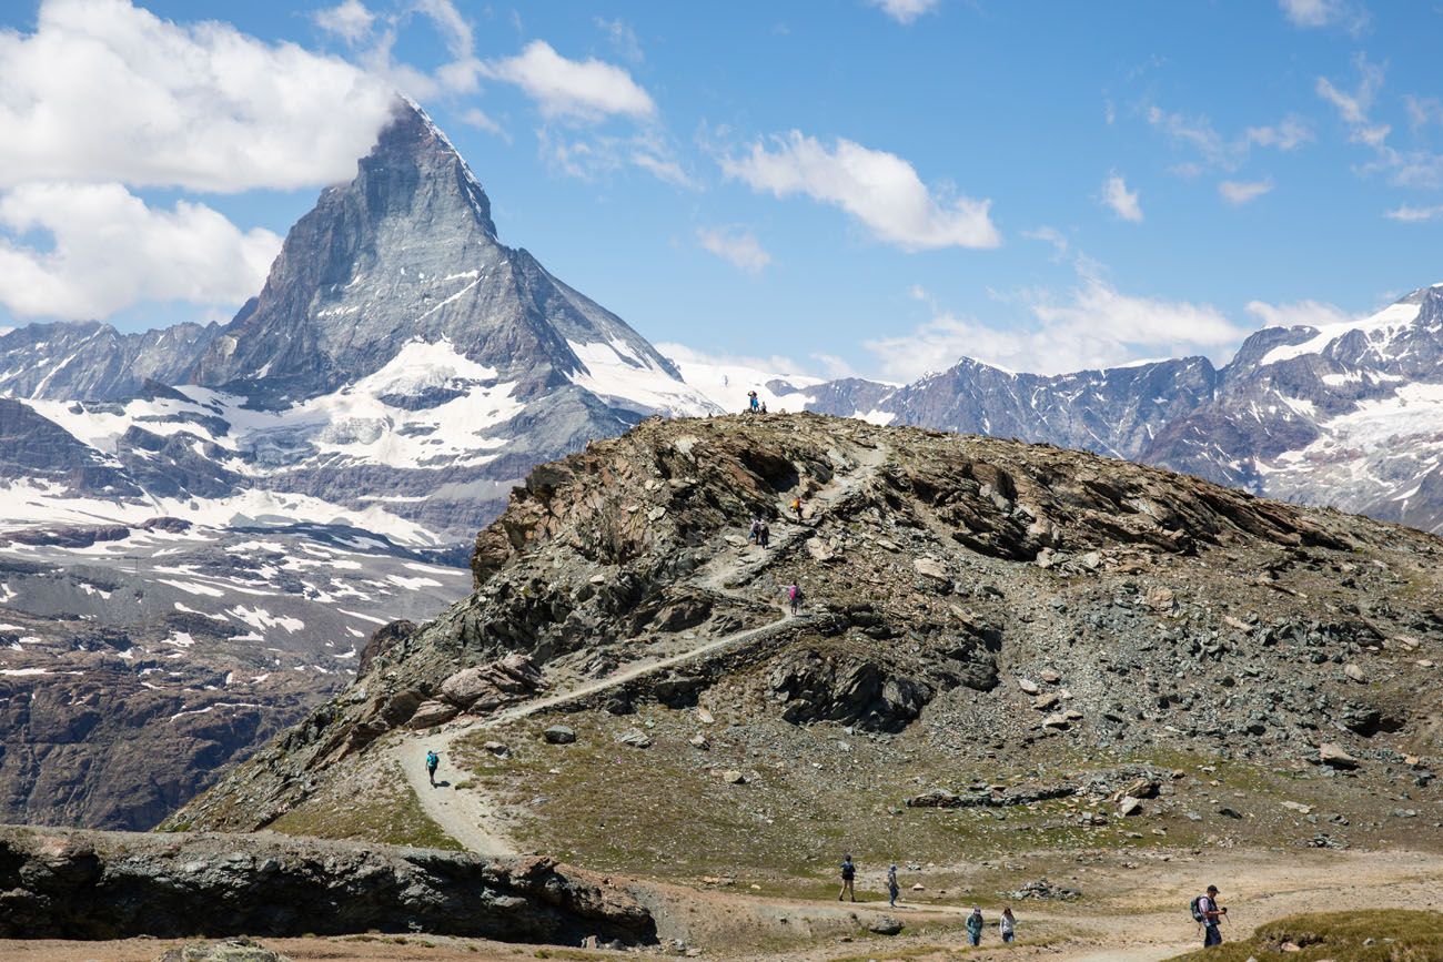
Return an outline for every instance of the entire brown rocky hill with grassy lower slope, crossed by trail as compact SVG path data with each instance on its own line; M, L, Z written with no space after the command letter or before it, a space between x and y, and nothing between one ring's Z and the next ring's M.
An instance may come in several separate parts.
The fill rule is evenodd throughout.
M169 826L368 837L359 786L411 777L469 847L687 878L1436 844L1440 551L1049 446L651 420L534 470L469 599Z

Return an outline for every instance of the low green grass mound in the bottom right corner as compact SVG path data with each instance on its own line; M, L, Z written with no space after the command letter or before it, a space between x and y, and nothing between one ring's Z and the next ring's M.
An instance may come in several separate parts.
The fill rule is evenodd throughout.
M1245 962L1248 958L1434 962L1443 959L1443 913L1387 909L1287 916L1260 926L1251 939L1188 952L1175 961Z

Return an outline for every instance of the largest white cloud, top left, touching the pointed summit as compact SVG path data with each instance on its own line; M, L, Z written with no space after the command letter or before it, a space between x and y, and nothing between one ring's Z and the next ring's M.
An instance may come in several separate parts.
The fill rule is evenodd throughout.
M349 177L392 92L345 61L126 0L46 0L0 32L0 187L121 182L232 192Z

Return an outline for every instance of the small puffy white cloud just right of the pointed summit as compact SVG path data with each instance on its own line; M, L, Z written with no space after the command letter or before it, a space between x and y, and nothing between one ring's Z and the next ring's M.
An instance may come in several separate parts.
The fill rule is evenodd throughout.
M597 59L570 61L545 40L532 40L517 56L486 61L482 72L515 84L548 118L599 121L610 115L649 118L657 104L631 74Z

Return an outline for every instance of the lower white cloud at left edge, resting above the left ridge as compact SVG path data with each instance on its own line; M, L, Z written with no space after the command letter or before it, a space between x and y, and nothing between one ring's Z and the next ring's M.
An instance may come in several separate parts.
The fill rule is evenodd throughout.
M156 211L118 183L32 183L0 196L0 225L53 238L0 238L0 303L22 317L104 317L131 304L237 304L260 290L280 238L241 232L211 208Z

